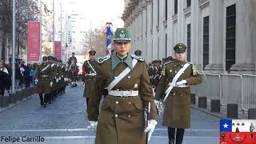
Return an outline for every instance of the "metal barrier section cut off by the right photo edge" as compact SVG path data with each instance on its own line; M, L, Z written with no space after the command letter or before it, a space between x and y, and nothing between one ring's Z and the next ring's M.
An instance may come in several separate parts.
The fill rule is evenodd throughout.
M256 75L242 74L242 109L256 108Z

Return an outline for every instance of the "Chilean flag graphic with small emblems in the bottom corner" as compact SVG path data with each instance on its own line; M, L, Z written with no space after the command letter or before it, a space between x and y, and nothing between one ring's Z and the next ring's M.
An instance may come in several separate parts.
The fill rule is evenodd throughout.
M221 119L220 144L256 144L256 119Z

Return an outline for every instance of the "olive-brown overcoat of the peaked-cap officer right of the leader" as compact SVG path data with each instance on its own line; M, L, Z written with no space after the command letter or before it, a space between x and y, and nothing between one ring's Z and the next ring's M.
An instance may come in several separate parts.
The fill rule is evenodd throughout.
M185 65L186 62L167 63L162 68L162 78L158 84L155 99L160 100L162 94L169 87L169 82L172 82L178 70ZM184 73L178 78L177 82L186 80L188 86L200 84L202 82L201 76L198 74L194 65L186 68ZM162 120L163 126L170 126L173 128L190 128L190 87L174 87L165 102L164 114Z

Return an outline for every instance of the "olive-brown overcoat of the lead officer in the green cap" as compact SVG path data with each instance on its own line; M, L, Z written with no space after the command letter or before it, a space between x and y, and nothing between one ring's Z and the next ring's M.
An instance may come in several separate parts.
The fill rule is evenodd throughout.
M113 70L113 57L117 56L112 54L110 59L99 65L97 70L98 91L109 86L114 77L117 77L127 67L125 62L120 62ZM138 60L133 70L125 78L122 78L112 90L138 90L139 96L114 97L107 95L102 102L100 114L98 114L100 98L97 98L97 95L90 97L88 119L98 121L95 143L144 144L146 136L143 110L148 102L151 104L150 119L157 119L146 62Z

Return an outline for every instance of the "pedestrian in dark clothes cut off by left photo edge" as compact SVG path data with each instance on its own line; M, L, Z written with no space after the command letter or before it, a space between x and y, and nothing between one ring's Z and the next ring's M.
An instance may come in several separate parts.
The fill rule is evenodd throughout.
M3 62L0 62L0 95L5 94L8 74L8 70L3 65Z

